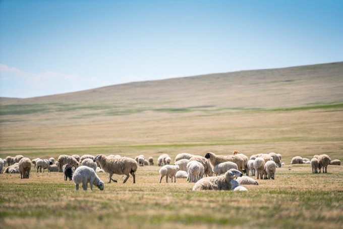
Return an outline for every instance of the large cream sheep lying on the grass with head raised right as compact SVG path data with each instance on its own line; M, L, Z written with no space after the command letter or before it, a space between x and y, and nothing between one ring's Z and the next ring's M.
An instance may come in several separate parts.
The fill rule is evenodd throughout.
M231 190L231 180L236 177L242 177L241 171L230 169L224 175L218 177L207 177L200 179L195 183L193 191L200 190Z

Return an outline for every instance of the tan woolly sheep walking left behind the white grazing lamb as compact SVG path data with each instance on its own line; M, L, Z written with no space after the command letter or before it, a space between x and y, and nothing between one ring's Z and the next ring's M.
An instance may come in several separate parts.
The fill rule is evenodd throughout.
M113 174L126 175L126 178L123 183L125 183L130 174L133 177L133 183L136 183L135 172L137 171L138 165L135 159L129 157L110 157L107 158L105 155L98 154L93 159L94 162L99 162L101 168L109 174L108 183L111 181L117 182L112 179Z

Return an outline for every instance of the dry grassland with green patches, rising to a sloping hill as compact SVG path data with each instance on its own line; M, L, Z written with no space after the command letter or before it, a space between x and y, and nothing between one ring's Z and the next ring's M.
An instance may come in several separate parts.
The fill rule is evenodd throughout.
M0 157L208 151L277 152L276 180L248 193L158 184L158 167L137 184L75 192L59 173L0 176L0 227L341 228L343 169L311 173L295 155L343 160L343 63L243 71L115 85L28 99L0 99ZM106 180L106 175L100 174Z

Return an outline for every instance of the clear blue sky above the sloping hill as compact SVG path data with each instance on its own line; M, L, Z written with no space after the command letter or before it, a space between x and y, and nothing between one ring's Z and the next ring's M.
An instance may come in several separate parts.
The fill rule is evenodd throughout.
M343 1L0 1L0 97L343 61Z

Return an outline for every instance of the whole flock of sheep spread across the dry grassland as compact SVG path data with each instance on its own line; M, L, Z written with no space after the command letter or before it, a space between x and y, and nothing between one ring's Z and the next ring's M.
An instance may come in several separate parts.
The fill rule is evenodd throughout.
M281 167L281 155L276 153L254 154L248 158L239 151L234 151L232 155L216 155L208 152L205 156L193 155L190 153L180 153L175 157L174 165L171 165L172 158L168 154L161 154L157 159L159 169L159 183L165 177L176 183L176 179L187 179L190 183L195 183L193 191L198 190L234 190L247 191L241 185L258 185L257 181L249 177L256 175L256 179L275 179L276 167ZM340 165L338 159L332 160L326 154L314 155L309 160L295 156L291 164L308 163L312 166L312 173L319 173L321 168L323 173L327 173L329 164ZM75 189L79 190L82 184L83 190L87 190L88 183L93 190L95 185L100 190L104 189L104 183L97 176L97 173L107 173L108 183L117 182L112 179L114 174L126 175L123 183L126 183L130 175L133 183L136 183L135 173L139 166L154 165L152 157L145 159L144 155L139 155L135 159L121 155L105 156L93 155L60 155L55 161L53 157L49 159L35 158L30 160L23 155L15 157L7 156L6 159L0 158L0 173L3 173L4 166L7 166L5 173L20 173L21 179L29 179L32 165L38 171L47 169L48 172L56 171L64 174L64 180L73 181ZM246 173L246 176L243 176ZM215 176L213 176L215 175Z

